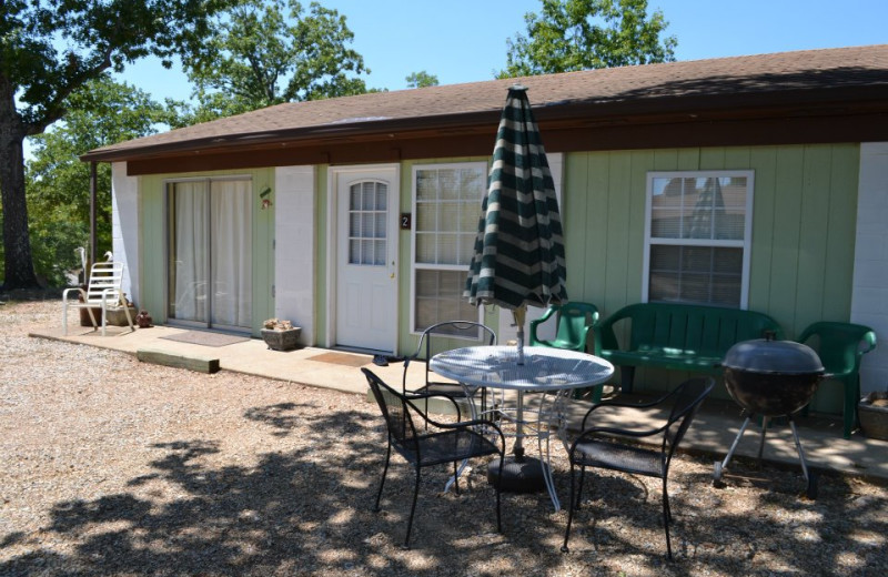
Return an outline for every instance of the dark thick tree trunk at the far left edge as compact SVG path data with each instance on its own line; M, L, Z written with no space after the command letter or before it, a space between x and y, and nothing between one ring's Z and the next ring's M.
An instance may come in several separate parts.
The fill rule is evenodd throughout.
M2 91L6 92L6 91ZM11 97L11 94L9 94ZM14 104L0 95L0 200L3 204L3 288L36 288L24 198L24 130ZM9 99L11 100L11 99ZM9 104L12 104L11 107ZM9 110L11 108L11 110Z

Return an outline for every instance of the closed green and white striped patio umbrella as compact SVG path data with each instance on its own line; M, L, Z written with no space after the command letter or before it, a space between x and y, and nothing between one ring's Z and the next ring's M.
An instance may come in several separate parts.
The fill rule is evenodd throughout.
M564 237L555 184L527 89L508 89L475 254L463 295L472 304L496 304L516 313L523 341L526 305L567 302Z

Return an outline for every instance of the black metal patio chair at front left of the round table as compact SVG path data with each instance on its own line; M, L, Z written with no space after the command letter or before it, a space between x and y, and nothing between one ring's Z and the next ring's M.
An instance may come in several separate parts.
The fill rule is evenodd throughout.
M495 424L487 421L458 421L460 406L452 397L425 394L403 394L386 385L379 376L367 368L361 370L367 378L367 384L376 403L380 405L385 424L389 429L389 443L385 452L385 466L382 472L380 490L376 494L374 510L380 510L380 499L385 485L385 475L389 472L389 462L394 448L404 459L416 469L416 480L413 488L413 502L407 520L407 534L404 537L404 548L410 548L410 535L413 528L413 515L416 510L416 498L420 494L421 472L424 467L453 463L456 493L460 493L460 480L456 478L457 464L473 457L485 455L500 456L500 472L503 468L505 456L505 438L503 432ZM456 411L456 423L438 423L428 418L415 404L415 401L426 401L432 396L448 398ZM418 415L426 423L426 429L420 433L414 424L413 415ZM427 425L432 425L428 429ZM492 442L497 438L500 444ZM498 478L498 477L497 477ZM500 486L496 489L496 530L502 530L500 519Z

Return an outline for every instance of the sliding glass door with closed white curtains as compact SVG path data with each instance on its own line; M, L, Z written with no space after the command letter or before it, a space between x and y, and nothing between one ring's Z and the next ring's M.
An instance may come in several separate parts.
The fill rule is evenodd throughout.
M206 328L252 327L252 185L190 180L167 189L168 317Z

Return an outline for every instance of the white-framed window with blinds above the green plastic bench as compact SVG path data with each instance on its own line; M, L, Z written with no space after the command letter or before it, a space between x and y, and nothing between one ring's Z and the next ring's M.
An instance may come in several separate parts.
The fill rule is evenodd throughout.
M643 300L745 308L753 171L652 172L647 199Z

